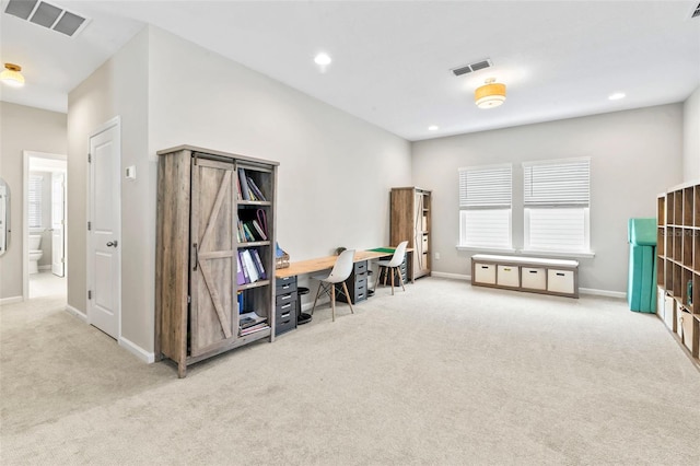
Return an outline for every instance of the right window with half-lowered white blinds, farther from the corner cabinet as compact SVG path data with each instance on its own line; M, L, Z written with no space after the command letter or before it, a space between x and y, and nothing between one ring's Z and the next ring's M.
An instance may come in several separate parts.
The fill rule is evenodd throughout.
M588 253L591 160L523 164L525 249Z

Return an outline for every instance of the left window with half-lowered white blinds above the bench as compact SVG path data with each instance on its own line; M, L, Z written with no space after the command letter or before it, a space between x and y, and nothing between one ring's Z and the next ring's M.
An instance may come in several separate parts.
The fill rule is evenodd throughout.
M513 167L459 168L459 246L512 248Z

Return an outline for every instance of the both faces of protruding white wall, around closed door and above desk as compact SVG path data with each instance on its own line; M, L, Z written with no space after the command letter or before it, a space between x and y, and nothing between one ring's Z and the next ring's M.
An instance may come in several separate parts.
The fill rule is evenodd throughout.
M389 188L411 179L407 141L149 26L69 95L79 232L68 299L82 312L85 148L90 131L117 115L122 168L137 166L137 180L121 183L121 328L145 351L154 343L156 151L186 143L279 161L278 241L293 260L385 244Z

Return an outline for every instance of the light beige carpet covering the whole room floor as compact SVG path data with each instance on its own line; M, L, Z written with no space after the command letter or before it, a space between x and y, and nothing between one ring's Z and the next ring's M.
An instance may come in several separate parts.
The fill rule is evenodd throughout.
M700 372L622 300L424 278L183 380L65 306L0 308L3 465L700 465Z

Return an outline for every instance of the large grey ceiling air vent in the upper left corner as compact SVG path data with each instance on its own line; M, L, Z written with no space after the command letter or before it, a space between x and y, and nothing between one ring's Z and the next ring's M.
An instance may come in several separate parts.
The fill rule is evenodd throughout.
M69 37L74 36L88 24L83 16L38 0L10 0L4 12Z

